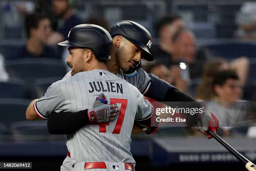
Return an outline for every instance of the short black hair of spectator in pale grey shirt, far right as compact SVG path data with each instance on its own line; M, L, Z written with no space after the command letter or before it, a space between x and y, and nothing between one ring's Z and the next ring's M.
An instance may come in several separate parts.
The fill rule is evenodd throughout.
M215 85L223 86L228 79L238 80L238 75L234 70L218 71L213 77L213 87Z

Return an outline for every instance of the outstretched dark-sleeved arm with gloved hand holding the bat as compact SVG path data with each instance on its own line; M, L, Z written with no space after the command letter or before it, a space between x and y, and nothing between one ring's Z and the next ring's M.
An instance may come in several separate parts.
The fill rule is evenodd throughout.
M179 91L179 89L164 80L159 79L154 74L148 74L148 76L151 80L148 89L145 90L144 96L159 102L179 102L177 103L177 107L179 108L203 108L203 105L200 102L197 102L194 98ZM218 131L218 118L207 109L202 111L202 113L197 113L195 115L187 114L187 125L190 127L194 126L198 131L205 133L209 138L212 138L212 136L207 133L207 130L212 130L213 132Z

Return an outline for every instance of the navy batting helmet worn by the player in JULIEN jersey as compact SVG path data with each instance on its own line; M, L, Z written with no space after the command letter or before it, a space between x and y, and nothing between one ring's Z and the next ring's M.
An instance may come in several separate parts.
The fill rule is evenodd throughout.
M67 41L58 45L90 48L98 58L107 60L110 59L112 38L105 28L94 24L80 24L69 31Z

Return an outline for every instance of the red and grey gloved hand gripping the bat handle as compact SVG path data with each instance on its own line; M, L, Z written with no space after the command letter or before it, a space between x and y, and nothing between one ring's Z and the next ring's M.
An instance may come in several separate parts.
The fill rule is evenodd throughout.
M201 133L204 133L205 135L208 135L209 139L212 138L212 135L210 135L208 131L212 130L212 132L216 133L219 126L220 124L218 118L209 110L204 108L202 109L202 113L198 113L198 121L195 129Z

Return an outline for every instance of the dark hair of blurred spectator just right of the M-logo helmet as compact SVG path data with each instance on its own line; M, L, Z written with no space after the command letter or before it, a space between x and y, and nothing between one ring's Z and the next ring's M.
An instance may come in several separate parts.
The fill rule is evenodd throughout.
M157 23L156 23L156 33L159 33L161 31L161 29L168 25L168 24L172 24L175 20L180 20L182 19L181 16L177 15L177 14L173 14L173 15L169 15L169 16L165 16L163 18L161 18Z

